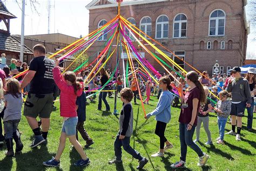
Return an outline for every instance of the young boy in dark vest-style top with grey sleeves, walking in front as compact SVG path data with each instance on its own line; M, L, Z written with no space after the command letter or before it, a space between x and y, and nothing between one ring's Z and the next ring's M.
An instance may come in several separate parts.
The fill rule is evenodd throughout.
M124 150L131 154L133 158L139 160L139 166L137 169L142 169L149 161L140 155L135 149L130 146L130 138L133 132L133 110L132 110L132 98L133 92L130 88L124 88L120 92L121 101L123 102L123 108L119 117L119 131L117 138L114 141L114 155L116 158L109 161L109 164L122 163L122 146Z

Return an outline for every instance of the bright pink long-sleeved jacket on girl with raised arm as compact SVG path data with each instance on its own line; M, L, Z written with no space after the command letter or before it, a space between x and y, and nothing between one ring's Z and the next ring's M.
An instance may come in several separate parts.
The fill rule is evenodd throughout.
M52 69L53 79L60 89L60 116L76 117L76 99L82 95L83 89L77 90L77 95L74 93L73 86L68 86L60 73L58 67Z

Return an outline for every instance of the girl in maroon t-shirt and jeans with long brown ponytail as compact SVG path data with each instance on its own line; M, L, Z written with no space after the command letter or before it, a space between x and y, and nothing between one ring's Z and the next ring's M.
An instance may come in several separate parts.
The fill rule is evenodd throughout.
M208 160L208 155L201 151L192 140L194 131L197 126L197 113L200 103L205 103L206 95L203 85L198 80L198 74L194 71L188 72L185 77L188 84L188 91L185 96L181 93L181 110L179 116L179 139L181 156L180 161L171 165L172 168L184 167L186 162L187 146L192 148L199 156L198 166L204 166ZM179 84L182 89L183 84Z

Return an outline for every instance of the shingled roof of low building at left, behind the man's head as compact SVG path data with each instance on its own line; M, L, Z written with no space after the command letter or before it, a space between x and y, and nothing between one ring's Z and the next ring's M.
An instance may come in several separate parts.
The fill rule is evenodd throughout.
M21 42L12 35L0 33L0 51L19 54L21 52ZM33 54L33 52L28 46L24 45L24 54Z

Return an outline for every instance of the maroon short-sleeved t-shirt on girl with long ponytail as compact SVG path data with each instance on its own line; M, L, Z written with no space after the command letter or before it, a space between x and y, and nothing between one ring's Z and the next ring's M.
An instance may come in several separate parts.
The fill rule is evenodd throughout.
M191 122L194 98L199 99L198 107L197 107L197 113L198 113L199 106L200 106L200 90L197 87L187 91L184 96L183 103L181 105L180 115L179 115L179 122L181 124L188 124ZM196 116L196 119L194 120L193 125L197 125L197 116Z

